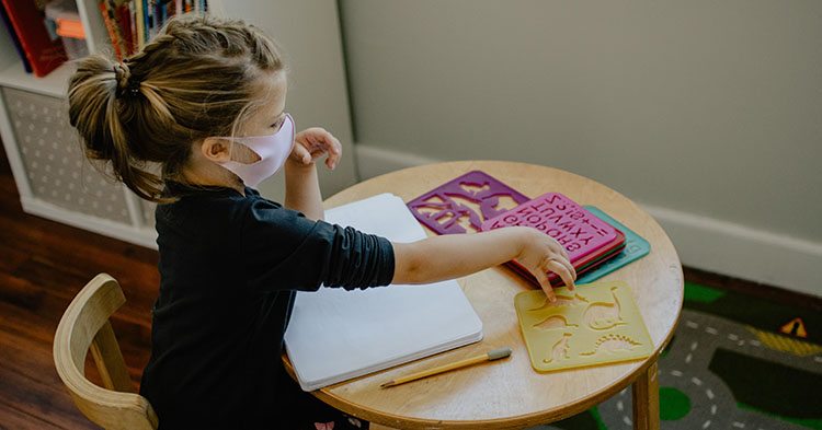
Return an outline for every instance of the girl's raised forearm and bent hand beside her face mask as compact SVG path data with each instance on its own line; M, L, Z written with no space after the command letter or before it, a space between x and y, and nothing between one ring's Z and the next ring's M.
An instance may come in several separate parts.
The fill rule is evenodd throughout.
M315 161L328 154L326 165L336 167L342 144L330 132L317 127L300 131L294 140L294 149L285 162L285 207L309 219L321 220L324 210Z

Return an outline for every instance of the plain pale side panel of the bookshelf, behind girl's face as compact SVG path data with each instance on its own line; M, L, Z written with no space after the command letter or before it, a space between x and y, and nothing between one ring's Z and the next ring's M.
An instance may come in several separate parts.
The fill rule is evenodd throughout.
M343 158L333 172L318 163L323 195L354 185L357 175L336 3L213 0L209 8L213 13L254 24L277 42L288 63L285 108L297 130L323 127L343 144ZM284 185L285 176L279 172L258 188L265 197L283 201Z

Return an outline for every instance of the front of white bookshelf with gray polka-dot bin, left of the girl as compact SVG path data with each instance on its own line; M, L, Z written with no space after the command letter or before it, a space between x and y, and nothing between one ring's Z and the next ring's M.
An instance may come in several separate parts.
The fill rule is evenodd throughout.
M76 1L80 20L85 30L85 43L89 53L110 51L109 33L105 28L103 16L100 13L98 0ZM68 176L71 178L71 175L79 172L79 176L75 177L75 181L79 185L73 188L82 187L83 189L73 190L72 199L77 199L78 197L76 196L80 196L79 199L82 200L84 199L83 196L88 195L91 204L103 208L100 210L101 216L78 210L78 207L82 207L82 204L76 200L66 201L71 200L68 196L66 198L61 196L53 197L49 193L42 193L42 185L39 187L34 185L34 183L44 183L44 181L43 177L38 176L42 172L34 173L31 168L38 160L32 161L34 155L26 152L41 152L37 147L38 144L54 144L60 150L76 151L78 154L81 151L77 140L78 137L76 132L72 132L70 126L68 124L54 124L55 118L65 115L68 111L65 97L68 89L68 80L76 69L76 65L71 61L65 62L42 78L36 77L34 73L27 73L23 68L23 62L8 32L2 31L0 33L0 137L2 137L3 147L12 167L12 174L14 175L14 182L20 193L23 210L27 213L141 246L156 247L156 233L152 226L146 225L142 222L144 217L140 211L140 205L136 201L137 198L125 186L110 183L101 185L104 181L103 176L91 165L85 164L78 167L76 164L71 164L70 166L62 166L59 160L56 162L52 160L50 162L55 168L54 172L47 174L53 173L55 176L54 182L62 183L66 181L62 177ZM20 115L16 115L21 108L19 106L21 102L19 100L16 102L11 100L13 97L10 97L9 94L13 94L14 96L30 94L33 102L26 105L25 108L32 109L34 112L33 115L37 114L35 112L37 109L39 109L39 114L43 112L48 113L48 115L43 116L42 124L37 124L35 118L28 121L27 126L28 128L41 126L44 130L50 129L52 133L44 136L49 136L53 141L45 141L43 138L37 139L36 133L38 130L30 130L23 127L24 121L19 118ZM36 109L34 105L36 105ZM59 109L64 112L57 112ZM54 131L58 127L59 130ZM32 140L34 140L34 143L32 143ZM37 140L41 141L38 142ZM44 160L48 160L48 155L45 154L46 151L42 152L44 154L38 156L44 156ZM76 163L77 161L72 159L72 162ZM46 167L48 168L50 165ZM69 167L73 171L66 172ZM58 170L60 174L57 173ZM105 190L105 195L95 196L96 194L101 194L103 189ZM125 210L127 213L125 216L119 213L115 219L106 217L103 204L106 200L117 201L121 211Z

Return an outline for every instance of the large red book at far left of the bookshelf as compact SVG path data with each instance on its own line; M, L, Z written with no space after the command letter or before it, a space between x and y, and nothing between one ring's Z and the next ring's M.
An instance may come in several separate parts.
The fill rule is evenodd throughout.
M11 30L16 35L25 59L37 77L45 77L68 59L62 42L46 28L45 11L34 0L1 0ZM25 66L25 61L23 61Z

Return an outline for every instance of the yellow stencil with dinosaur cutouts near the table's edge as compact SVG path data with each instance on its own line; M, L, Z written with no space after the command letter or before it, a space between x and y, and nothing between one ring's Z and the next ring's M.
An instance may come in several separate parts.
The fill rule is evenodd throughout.
M555 288L551 303L543 290L516 294L514 306L538 372L639 360L653 342L628 284L604 281Z

